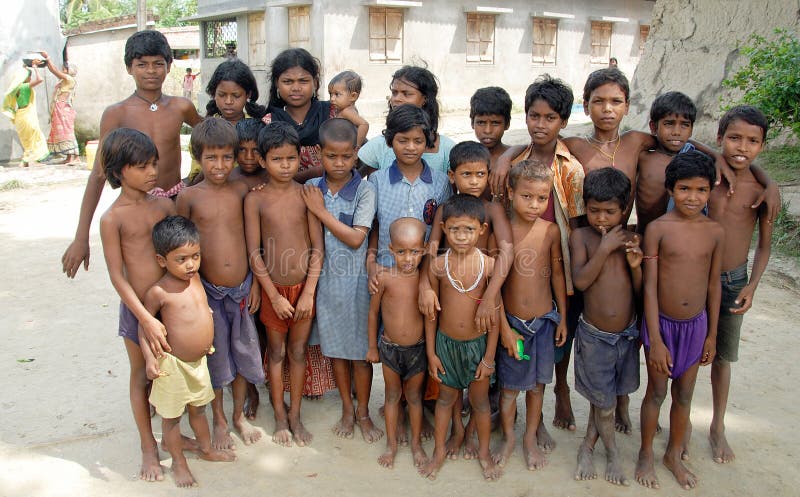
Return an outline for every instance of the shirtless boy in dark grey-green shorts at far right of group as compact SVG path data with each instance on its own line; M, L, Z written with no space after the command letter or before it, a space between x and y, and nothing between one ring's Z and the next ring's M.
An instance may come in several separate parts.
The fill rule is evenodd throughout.
M739 335L744 313L767 267L772 240L772 222L765 206L753 209L763 187L752 171L753 160L761 153L769 124L764 114L752 106L737 106L722 116L717 144L722 156L736 174L736 193L727 195L724 185L716 187L708 200L709 215L725 230L722 257L722 299L717 326L717 355L711 364L711 392L714 416L709 440L714 461L731 462L733 449L725 437L725 408L731 385L731 362L739 359ZM747 278L747 256L758 222L758 242L753 257L753 273Z

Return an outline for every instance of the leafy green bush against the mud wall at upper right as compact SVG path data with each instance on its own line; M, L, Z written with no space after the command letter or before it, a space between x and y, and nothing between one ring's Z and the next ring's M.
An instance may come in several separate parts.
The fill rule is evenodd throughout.
M800 138L800 39L783 29L776 29L775 35L774 40L751 36L741 47L748 63L722 84L742 90L739 103L755 105L766 114L772 136L790 130Z

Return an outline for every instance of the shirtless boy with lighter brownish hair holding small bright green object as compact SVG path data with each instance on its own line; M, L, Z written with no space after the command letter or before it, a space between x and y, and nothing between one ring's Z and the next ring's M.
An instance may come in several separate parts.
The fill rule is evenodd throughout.
M561 236L555 223L542 218L552 188L552 170L535 159L515 165L509 175L514 265L503 285L503 348L497 356L503 444L494 457L505 466L514 452L517 395L525 391L522 451L529 470L547 464L548 448L538 433L542 395L544 385L553 380L554 344L563 345L567 337L566 322L561 319L567 305Z

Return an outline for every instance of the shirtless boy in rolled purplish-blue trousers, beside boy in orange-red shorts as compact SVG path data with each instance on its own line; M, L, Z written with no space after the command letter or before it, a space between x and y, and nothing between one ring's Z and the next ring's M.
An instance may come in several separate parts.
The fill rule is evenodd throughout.
M208 369L216 394L211 404L213 445L231 449L233 439L223 410L223 388L233 387L233 426L249 445L261 438L244 416L247 382L264 383L261 351L252 313L260 288L253 281L244 238L247 186L229 181L239 138L228 121L210 117L192 130L192 156L203 168L203 180L178 194L178 214L200 230L204 263L200 268L208 305L214 311L214 348Z

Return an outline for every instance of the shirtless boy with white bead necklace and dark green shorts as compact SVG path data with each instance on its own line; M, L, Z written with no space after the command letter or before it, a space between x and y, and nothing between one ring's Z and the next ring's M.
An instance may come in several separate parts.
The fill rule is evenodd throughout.
M428 271L442 310L438 322L425 320L428 372L440 383L434 430L436 444L433 457L418 471L426 478L436 478L447 456L445 440L453 404L461 391L468 388L478 430L478 460L484 479L494 481L502 475L502 469L489 452L489 385L494 381L497 325L487 331L475 322L478 305L494 269L494 259L475 246L486 231L483 202L472 195L451 197L442 204L442 229L449 248L433 260ZM498 321L499 318L494 320Z

